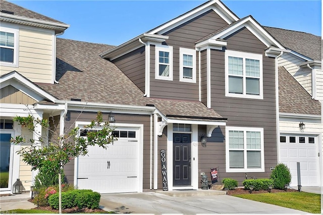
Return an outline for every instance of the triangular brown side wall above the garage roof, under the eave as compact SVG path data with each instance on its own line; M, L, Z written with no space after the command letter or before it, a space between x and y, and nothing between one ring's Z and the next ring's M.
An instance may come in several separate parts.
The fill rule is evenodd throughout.
M142 91L145 91L145 46L112 61Z

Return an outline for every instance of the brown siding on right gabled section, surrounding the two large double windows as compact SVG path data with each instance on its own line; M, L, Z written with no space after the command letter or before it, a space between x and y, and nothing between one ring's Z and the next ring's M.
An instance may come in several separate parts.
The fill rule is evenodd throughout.
M264 55L266 46L249 30L243 28L225 38L228 50L261 53L263 63L263 99L248 99L225 96L225 52L211 49L211 108L222 117L228 118L227 126L259 127L264 131L264 173L249 173L257 178L270 176L270 167L277 165L276 139L276 94L275 94L275 59ZM225 136L225 127L221 131ZM212 138L215 134L213 131ZM217 142L210 138L206 148L199 150L199 168L208 171L208 160L213 160L215 167L221 170L222 178L235 178L241 182L244 173L226 173L226 158L216 155L225 154L225 142ZM209 148L209 150L205 150Z

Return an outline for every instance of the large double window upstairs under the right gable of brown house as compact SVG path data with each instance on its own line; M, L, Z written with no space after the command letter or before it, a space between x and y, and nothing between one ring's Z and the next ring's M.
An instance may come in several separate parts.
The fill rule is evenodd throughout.
M226 96L263 99L262 55L226 50Z

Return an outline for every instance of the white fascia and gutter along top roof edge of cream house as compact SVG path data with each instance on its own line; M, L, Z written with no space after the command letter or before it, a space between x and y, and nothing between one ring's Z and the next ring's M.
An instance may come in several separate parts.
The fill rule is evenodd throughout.
M70 25L65 23L50 22L50 21L32 19L32 18L21 17L21 16L16 16L11 14L5 14L5 13L0 13L0 18L1 20L7 21L7 22L10 22L10 21L23 22L21 24L25 24L25 25L38 24L37 27L39 27L39 24L43 25L44 27L51 27L55 29L64 29L64 30L70 27Z

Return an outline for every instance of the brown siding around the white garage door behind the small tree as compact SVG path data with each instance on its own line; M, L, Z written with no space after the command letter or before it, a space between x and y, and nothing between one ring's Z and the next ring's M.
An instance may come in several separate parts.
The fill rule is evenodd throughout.
M103 113L103 120L107 121L108 113ZM150 166L150 115L115 114L117 123L143 125L143 189L149 189ZM75 121L91 122L96 118L96 113L69 111L65 121L65 128L74 128ZM67 132L67 131L65 131ZM74 160L64 167L64 173L70 184L74 184Z

